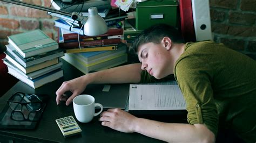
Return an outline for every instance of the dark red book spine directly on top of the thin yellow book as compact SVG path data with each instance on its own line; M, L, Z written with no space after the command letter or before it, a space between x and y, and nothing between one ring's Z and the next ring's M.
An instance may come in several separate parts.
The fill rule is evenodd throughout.
M80 41L80 46L98 46L98 45L113 45L119 44L121 42L120 38L114 39L101 39L101 40L92 40L92 41ZM70 48L79 48L78 42L63 42L59 44L60 48L70 49Z

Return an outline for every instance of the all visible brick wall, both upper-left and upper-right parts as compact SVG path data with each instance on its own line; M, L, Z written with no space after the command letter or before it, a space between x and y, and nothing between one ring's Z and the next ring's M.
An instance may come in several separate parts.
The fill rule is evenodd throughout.
M50 6L50 0L23 0ZM210 0L211 24L214 41L243 53L256 54L256 1ZM0 51L6 37L40 28L53 39L57 38L54 20L45 11L0 2Z

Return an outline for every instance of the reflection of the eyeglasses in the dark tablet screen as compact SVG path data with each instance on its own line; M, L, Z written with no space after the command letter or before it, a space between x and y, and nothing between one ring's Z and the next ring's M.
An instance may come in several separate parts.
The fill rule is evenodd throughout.
M25 115L21 111L11 112L11 119L15 121L38 121L40 117L41 117L41 112L29 112L28 114L25 114Z

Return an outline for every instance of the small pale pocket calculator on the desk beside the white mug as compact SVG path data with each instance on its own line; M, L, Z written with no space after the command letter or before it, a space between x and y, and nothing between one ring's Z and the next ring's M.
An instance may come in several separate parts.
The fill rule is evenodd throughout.
M62 131L62 134L65 138L82 132L81 128L78 126L73 116L59 118L55 121L58 124L59 129L60 131Z

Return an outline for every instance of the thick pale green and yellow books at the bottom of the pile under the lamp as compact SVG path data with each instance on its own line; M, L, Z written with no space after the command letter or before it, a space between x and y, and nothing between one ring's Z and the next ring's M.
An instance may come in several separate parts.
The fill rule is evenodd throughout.
M118 50L115 51L65 53L62 58L87 74L126 63L127 47L125 44L119 44Z

